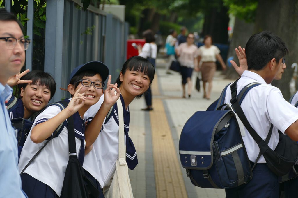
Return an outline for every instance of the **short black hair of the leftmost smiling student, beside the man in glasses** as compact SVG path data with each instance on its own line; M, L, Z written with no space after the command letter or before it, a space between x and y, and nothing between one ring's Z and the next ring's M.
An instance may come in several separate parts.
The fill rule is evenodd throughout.
M46 86L51 91L51 98L56 92L56 82L54 78L46 72L41 70L33 70L20 78L20 80L32 80L30 84L38 84L41 86ZM21 88L25 89L28 84L19 84L18 91L19 97L21 97Z

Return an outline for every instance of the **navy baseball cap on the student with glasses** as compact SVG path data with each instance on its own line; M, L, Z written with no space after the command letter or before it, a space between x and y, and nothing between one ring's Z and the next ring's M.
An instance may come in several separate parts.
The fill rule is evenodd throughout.
M69 76L68 82L70 83L70 80L72 80L72 78L76 74L78 74L82 71L85 71L85 70L94 70L94 71L96 71L101 76L103 82L105 82L105 80L107 80L108 75L109 75L109 69L104 63L102 63L100 61L91 61L91 62L85 63L83 65L79 65L75 69L73 69L72 73Z

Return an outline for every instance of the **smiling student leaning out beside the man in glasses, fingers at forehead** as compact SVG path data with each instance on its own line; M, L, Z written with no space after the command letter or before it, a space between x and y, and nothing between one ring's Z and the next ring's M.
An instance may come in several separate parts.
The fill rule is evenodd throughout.
M10 77L7 81L10 87L18 85L18 98L12 95L6 106L10 119L29 119L34 113L46 107L55 94L56 83L54 78L40 70L29 69L19 75Z

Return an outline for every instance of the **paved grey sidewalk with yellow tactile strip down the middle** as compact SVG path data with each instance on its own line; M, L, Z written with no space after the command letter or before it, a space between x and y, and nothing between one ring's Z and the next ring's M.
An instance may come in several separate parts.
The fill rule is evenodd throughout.
M202 91L196 90L190 99L185 99L181 97L181 76L174 72L165 74L165 61L157 59L156 62L157 75L151 85L154 110L140 110L145 107L143 98L135 99L130 105L129 134L139 160L135 170L129 170L134 197L224 198L223 189L202 189L190 182L180 164L178 142L187 119L195 111L206 110L232 80L224 80L221 72L216 72L210 100L203 99ZM195 78L193 73L193 84Z

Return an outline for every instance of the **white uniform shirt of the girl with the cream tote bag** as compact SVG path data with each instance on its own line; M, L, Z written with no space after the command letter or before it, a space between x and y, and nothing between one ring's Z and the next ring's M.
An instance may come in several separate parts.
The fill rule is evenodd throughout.
M101 97L103 98L103 96ZM88 116L94 117L102 103L103 99L100 99L96 104L92 105L86 112L89 114ZM118 135L119 126L114 120L114 117L111 116L107 123L101 128L100 134L93 143L92 150L84 158L83 168L100 183L101 188L109 183L116 170L119 143ZM125 134L124 143L126 144Z

